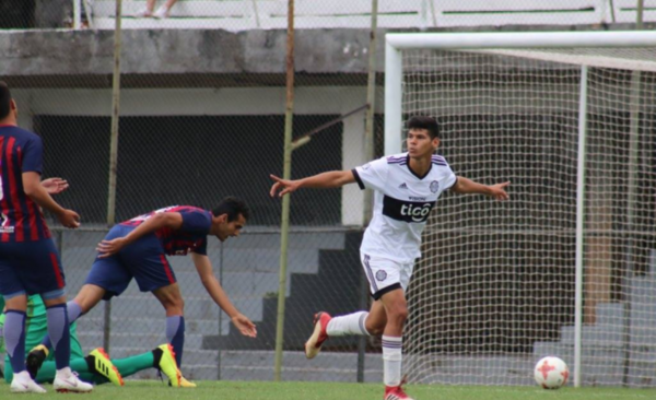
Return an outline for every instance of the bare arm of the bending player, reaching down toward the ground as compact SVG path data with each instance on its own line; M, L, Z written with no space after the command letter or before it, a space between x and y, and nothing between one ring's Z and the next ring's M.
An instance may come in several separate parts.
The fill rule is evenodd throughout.
M227 314L232 322L235 325L235 327L237 327L243 336L249 338L257 337L255 323L253 323L248 317L237 310L237 308L227 297L225 291L223 291L223 287L221 287L216 277L214 277L210 258L204 255L191 252L191 259L194 260L196 271L198 271L198 275L200 277L200 282L202 282L202 285L204 286L206 291L208 291L214 303L216 303L216 305L221 307L225 314Z

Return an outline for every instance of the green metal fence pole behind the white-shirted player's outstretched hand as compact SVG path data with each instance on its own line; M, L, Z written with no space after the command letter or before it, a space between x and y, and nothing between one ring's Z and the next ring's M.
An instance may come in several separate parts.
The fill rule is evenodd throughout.
M288 4L286 107L284 111L284 161L282 178L292 177L292 121L294 116L294 0ZM284 301L286 292L288 239L290 233L290 195L282 198L280 226L280 277L278 286L278 319L276 322L274 379L281 380L284 342Z

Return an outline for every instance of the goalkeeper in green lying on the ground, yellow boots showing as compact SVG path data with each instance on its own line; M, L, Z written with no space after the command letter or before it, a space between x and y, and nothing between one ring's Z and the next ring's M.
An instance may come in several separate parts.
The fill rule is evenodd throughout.
M4 309L4 301L0 296L0 310ZM39 295L27 297L27 318L26 318L26 338L25 349L33 349L42 342L47 333L46 306ZM4 323L4 314L0 314L0 332ZM175 362L175 354L169 344L162 344L155 350L126 358L109 360L109 356L102 348L94 349L84 356L82 348L75 332L75 323L70 326L71 333L71 363L70 367L77 372L80 379L93 383L95 385L106 384L108 381L124 386L124 376L136 374L148 368L157 368L171 380L175 387L187 387L186 379L181 376ZM55 379L56 367L54 355L45 349L39 348L47 354L46 361L38 370L37 376L33 376L39 384L52 383ZM0 353L4 353L4 345L0 338ZM11 383L13 370L9 363L9 356L4 356L4 380Z

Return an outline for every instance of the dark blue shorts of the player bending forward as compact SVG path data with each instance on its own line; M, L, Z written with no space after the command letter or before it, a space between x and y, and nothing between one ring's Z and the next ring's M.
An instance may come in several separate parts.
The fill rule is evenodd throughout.
M124 237L132 230L134 226L115 225L105 240ZM96 257L84 284L103 287L107 292L104 299L109 299L121 294L132 278L141 292L152 292L176 282L162 243L155 234L143 236L114 256Z

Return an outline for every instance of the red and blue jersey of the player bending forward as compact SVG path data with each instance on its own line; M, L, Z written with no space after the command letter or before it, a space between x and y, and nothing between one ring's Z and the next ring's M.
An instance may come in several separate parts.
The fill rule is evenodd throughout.
M183 216L180 228L165 227L155 232L162 247L164 247L164 254L168 256L185 256L189 251L199 255L208 254L208 235L212 225L212 214L197 207L171 205L121 222L121 225L138 226L151 216L162 212L177 212Z

